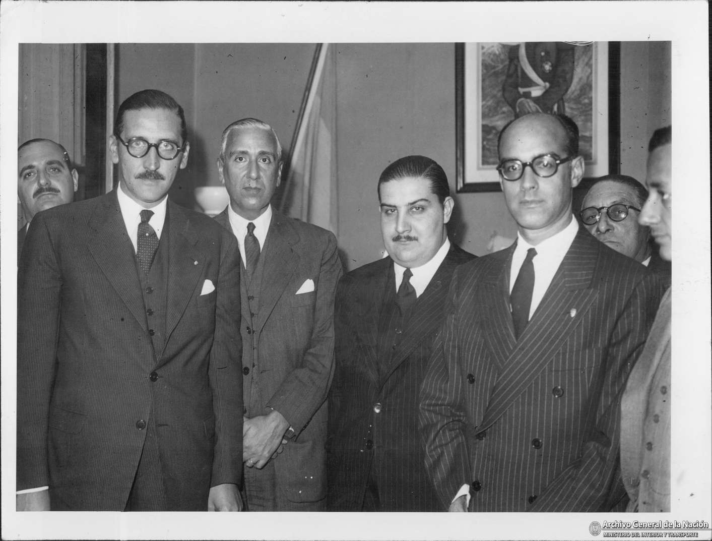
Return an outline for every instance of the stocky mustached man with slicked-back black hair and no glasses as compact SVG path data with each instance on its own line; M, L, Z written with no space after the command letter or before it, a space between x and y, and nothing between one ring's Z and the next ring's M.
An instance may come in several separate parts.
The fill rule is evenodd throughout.
M454 207L444 170L406 156L378 180L388 257L337 290L330 392L328 505L334 511L436 511L418 403L454 269L474 256L447 237Z

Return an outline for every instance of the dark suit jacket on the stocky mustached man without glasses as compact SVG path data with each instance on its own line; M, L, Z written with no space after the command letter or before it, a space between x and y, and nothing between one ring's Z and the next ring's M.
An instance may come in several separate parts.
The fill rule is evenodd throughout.
M473 257L452 245L414 306L388 364L379 358L377 339L387 288L394 287L393 260L380 259L341 280L335 316L336 372L330 392L330 510L360 511L371 473L382 510L439 510L424 468L419 393L452 273Z

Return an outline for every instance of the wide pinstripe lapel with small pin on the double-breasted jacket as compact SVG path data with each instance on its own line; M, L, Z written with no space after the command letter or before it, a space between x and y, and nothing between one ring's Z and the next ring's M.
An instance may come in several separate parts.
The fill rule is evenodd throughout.
M553 354L592 306L598 294L592 281L599 248L598 241L580 228L549 289L506 359L478 431L491 426L548 366Z

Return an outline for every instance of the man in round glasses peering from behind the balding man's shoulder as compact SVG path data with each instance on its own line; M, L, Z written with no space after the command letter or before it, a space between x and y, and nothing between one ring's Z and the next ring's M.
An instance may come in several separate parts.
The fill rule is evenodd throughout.
M616 252L632 257L670 285L670 263L653 249L650 228L638 221L648 190L633 177L606 175L590 187L579 217L591 235Z

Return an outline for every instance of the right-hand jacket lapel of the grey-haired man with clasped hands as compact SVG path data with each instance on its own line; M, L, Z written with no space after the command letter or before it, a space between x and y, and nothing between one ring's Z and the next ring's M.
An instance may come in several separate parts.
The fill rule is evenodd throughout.
M260 254L260 257L264 257L264 262L260 309L255 322L257 332L262 330L297 268L298 255L292 249L297 242L297 232L282 215L273 211L265 246Z

